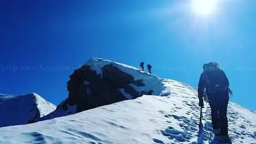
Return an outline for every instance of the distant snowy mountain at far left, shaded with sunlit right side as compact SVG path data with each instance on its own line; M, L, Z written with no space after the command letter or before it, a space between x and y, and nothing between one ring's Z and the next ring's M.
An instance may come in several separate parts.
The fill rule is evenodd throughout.
M28 95L0 95L0 127L23 125L43 117L56 109L36 93Z

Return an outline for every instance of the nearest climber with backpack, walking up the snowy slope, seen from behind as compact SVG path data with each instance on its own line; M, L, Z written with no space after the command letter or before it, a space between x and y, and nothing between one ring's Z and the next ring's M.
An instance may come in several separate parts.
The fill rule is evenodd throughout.
M230 141L228 136L227 108L229 94L229 80L216 62L206 63L198 83L199 106L204 107L203 97L207 95L211 108L211 123L215 136L220 141Z

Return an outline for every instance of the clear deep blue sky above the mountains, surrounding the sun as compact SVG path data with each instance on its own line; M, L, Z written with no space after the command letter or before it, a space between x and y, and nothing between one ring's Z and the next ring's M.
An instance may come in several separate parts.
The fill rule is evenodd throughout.
M1 1L0 93L36 92L58 105L66 82L91 57L197 86L216 61L233 102L256 110L256 1L223 0L209 16L191 1ZM53 71L52 67L56 71Z

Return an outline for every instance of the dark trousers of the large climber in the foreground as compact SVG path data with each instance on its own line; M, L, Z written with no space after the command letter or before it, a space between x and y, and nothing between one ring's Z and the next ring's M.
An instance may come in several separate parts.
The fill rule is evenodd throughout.
M219 129L221 136L228 136L228 92L211 93L208 94L208 97L211 107L211 123L213 129Z

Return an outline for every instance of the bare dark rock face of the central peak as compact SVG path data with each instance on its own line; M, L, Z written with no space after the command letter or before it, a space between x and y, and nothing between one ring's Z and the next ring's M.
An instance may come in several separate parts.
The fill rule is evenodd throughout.
M122 72L120 68L105 65L101 68L102 74L97 75L95 69L84 65L76 69L70 80L67 82L68 98L57 108L67 110L65 103L76 105L76 111L81 112L103 105L127 100L119 88L124 88L132 98L142 96L142 94L151 95L153 91L136 91L129 84L141 87L145 86L142 80L134 80L131 75Z

